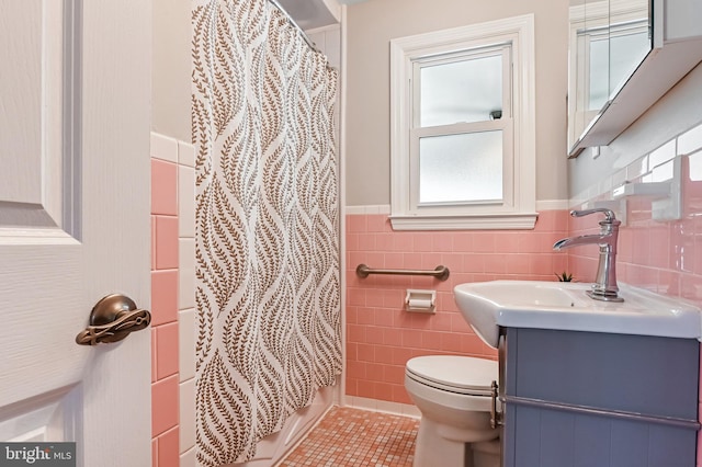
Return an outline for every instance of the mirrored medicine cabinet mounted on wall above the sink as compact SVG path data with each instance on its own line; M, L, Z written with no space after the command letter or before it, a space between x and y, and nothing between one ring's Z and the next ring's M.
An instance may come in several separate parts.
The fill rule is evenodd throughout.
M699 0L570 0L568 155L609 145L702 60Z

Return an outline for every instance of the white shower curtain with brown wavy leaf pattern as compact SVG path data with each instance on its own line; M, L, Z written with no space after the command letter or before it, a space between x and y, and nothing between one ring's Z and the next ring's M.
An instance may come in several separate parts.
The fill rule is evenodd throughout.
M194 0L196 437L251 459L341 373L337 71L267 0Z

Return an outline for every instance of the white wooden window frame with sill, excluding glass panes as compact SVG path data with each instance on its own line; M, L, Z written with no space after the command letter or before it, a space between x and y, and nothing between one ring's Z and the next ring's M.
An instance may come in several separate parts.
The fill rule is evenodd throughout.
M512 56L511 116L505 121L456 124L454 133L502 129L503 200L486 203L418 203L412 76L415 62L430 56L509 44ZM534 16L491 21L390 41L390 221L396 230L532 229L536 221ZM506 103L507 105L507 103ZM444 127L451 134L451 125Z

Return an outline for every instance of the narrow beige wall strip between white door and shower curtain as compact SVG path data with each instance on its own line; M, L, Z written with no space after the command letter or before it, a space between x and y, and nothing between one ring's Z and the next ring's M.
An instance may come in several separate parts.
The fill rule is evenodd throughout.
M154 0L151 130L191 141L190 0Z

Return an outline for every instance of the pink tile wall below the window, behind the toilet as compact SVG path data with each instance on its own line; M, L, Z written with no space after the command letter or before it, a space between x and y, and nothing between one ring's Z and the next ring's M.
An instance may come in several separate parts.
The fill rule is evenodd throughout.
M453 299L465 282L555 281L567 255L552 251L567 235L567 212L540 213L534 230L394 231L387 215L347 216L347 395L411 403L404 386L406 362L418 355L455 354L496 358L475 335ZM429 269L443 264L448 281L371 275L358 264ZM407 288L437 291L435 315L404 310Z

